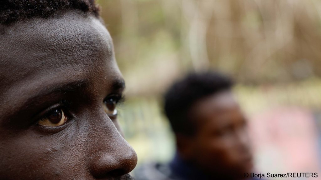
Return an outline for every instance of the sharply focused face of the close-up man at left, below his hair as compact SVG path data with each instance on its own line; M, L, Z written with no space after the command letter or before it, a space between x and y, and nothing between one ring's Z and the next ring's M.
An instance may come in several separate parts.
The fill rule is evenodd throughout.
M0 35L2 179L131 179L137 156L119 133L124 90L101 22L68 12Z

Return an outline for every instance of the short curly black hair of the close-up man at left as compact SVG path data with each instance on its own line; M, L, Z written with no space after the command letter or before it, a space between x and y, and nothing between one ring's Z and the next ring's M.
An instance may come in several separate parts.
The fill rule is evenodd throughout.
M81 10L99 17L99 6L95 0L1 0L0 24L10 25L33 17L48 18L67 10Z

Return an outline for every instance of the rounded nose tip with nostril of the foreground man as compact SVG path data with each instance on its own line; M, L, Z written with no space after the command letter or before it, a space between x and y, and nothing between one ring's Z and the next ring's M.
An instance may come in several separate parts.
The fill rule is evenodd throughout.
M126 143L125 147L119 146L118 150L99 153L99 155L94 158L91 174L95 178L122 176L132 171L136 164L136 152Z

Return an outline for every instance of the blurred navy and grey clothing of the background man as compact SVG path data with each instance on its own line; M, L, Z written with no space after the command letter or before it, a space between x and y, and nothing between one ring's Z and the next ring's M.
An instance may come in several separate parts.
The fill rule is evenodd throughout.
M192 164L183 161L178 154L169 164L149 163L137 168L134 177L136 180L212 180Z

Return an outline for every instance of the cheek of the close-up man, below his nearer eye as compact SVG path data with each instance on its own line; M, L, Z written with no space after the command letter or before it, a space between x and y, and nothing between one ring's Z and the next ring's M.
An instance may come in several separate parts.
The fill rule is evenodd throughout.
M4 179L55 179L85 171L81 151L65 134L39 135L26 131L6 138L0 148L0 174ZM77 152L77 153L74 153ZM78 173L79 174L79 173Z

